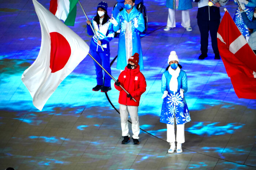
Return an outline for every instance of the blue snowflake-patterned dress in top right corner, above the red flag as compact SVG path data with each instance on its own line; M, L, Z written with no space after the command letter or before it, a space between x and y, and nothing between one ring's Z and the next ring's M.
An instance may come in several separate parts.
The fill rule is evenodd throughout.
M244 12L248 16L248 19L251 21L253 17L254 8L245 7ZM247 26L242 19L241 13L237 7L236 13L233 18L234 22L237 25L237 28L240 30L243 36L250 36Z

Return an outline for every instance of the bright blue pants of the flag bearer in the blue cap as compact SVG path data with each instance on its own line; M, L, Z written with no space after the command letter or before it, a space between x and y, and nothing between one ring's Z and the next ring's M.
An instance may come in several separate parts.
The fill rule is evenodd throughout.
M98 52L98 51L91 50L91 55L111 75L111 69L110 69L110 63L109 63L109 58L110 58L109 51ZM97 85L103 85L102 68L96 62L94 62L94 65L95 65L95 71L96 71ZM104 86L111 87L110 81L111 81L111 77L105 73Z

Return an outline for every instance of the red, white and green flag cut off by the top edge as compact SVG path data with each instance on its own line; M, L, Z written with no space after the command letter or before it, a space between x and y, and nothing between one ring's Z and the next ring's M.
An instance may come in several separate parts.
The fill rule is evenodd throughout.
M49 11L64 24L74 26L76 19L76 4L78 0L50 0Z

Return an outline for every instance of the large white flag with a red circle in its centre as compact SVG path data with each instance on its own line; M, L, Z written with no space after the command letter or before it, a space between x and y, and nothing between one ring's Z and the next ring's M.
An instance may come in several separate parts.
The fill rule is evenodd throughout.
M86 57L89 46L38 1L33 0L33 4L41 25L42 41L38 57L24 71L22 82L34 106L42 110L59 84Z

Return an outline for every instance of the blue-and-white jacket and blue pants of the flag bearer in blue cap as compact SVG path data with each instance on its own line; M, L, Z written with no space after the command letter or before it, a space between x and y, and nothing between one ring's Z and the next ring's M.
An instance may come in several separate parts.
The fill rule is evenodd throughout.
M97 38L95 37L93 30L91 29L90 25L87 24L87 33L88 35L93 35L91 39L90 49L91 49L91 55L99 62L99 64L102 64L103 68L106 69L106 71L111 74L110 69L110 50L109 50L109 41L111 41L114 38L114 31L113 31L113 24L110 23L110 21L106 22L102 25L103 18L100 19L99 23L95 20L91 20L91 23L93 25L94 31L96 32L98 39L101 41L101 45L103 47L103 50L97 43ZM96 79L97 79L97 85L103 85L103 73L102 68L98 66L96 62L94 62L95 65L95 71L96 71ZM111 87L110 84L111 78L108 74L105 74L105 82L104 86Z

